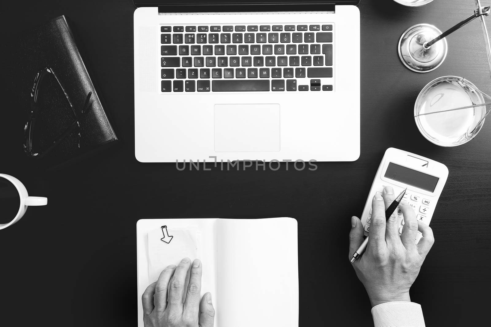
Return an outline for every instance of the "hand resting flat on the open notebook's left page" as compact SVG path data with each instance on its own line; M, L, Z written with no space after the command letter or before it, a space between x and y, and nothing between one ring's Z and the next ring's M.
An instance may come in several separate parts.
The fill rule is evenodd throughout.
M191 259L184 258L177 267L167 266L159 279L147 287L141 297L145 327L213 327L212 295L206 293L199 299L202 266L198 259L192 262L188 288L184 289L190 267Z

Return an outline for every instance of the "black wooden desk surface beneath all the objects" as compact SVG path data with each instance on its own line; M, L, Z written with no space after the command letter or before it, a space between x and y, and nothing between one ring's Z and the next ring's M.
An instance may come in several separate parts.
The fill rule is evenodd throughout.
M30 208L0 231L1 325L136 326L140 218L284 216L299 222L300 326L370 325L370 303L348 261L348 232L388 147L430 157L450 171L431 223L436 243L411 299L422 304L427 326L475 326L488 317L489 300L481 299L491 291L490 123L472 142L447 149L426 141L412 118L416 96L436 77L464 76L489 91L480 25L474 21L449 36L446 61L428 74L404 68L396 50L409 26L446 29L471 14L473 0L420 8L361 1L361 155L319 163L315 172L179 172L175 164L137 162L131 0L8 2L15 4L1 12L7 40L55 16L71 18L121 144L47 173L16 155L22 140L0 139L0 171L21 179L31 195L49 198L47 207ZM2 96L7 104L10 97ZM2 107L3 127L19 125L9 123L9 110L18 109Z

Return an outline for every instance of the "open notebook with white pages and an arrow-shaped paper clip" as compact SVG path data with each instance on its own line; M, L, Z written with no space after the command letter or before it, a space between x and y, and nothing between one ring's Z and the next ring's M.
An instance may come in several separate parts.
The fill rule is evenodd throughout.
M138 326L145 288L184 257L202 261L201 295L212 293L215 327L298 326L295 219L142 219L136 238Z

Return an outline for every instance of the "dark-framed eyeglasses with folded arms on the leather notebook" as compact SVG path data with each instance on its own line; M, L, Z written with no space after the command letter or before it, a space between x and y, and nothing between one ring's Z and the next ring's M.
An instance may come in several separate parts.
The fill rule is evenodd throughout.
M34 131L35 131L36 122L39 120L39 116L43 111L43 109L46 110L46 108L43 108L43 106L39 103L40 85L42 84L43 80L45 80L45 78L50 75L56 80L56 83L59 85L59 87L63 91L63 94L66 97L66 100L68 101L67 106L69 106L69 108L67 112L72 117L71 124L68 127L66 127L59 134L59 136L57 136L53 141L48 142L47 144L49 145L45 149L34 149L33 144L34 144ZM80 121L82 117L89 111L89 103L90 103L91 96L92 96L92 92L89 92L87 94L87 97L85 98L85 103L83 104L82 110L77 111L73 105L73 102L70 100L70 97L68 96L67 92L65 91L65 88L61 84L58 76L56 76L53 69L51 68L41 69L34 77L34 83L32 85L32 89L30 93L30 111L27 116L27 123L24 126L24 135L25 135L24 151L26 152L27 156L31 158L44 157L50 151L55 149L55 147L58 146L63 140L65 140L67 136L69 136L75 129L78 130L76 136L77 144L75 145L75 147L80 149L80 140L81 140Z

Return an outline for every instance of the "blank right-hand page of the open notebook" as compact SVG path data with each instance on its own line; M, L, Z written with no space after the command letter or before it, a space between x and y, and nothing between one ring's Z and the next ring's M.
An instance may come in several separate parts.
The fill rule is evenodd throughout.
M298 326L297 221L219 219L218 326Z

